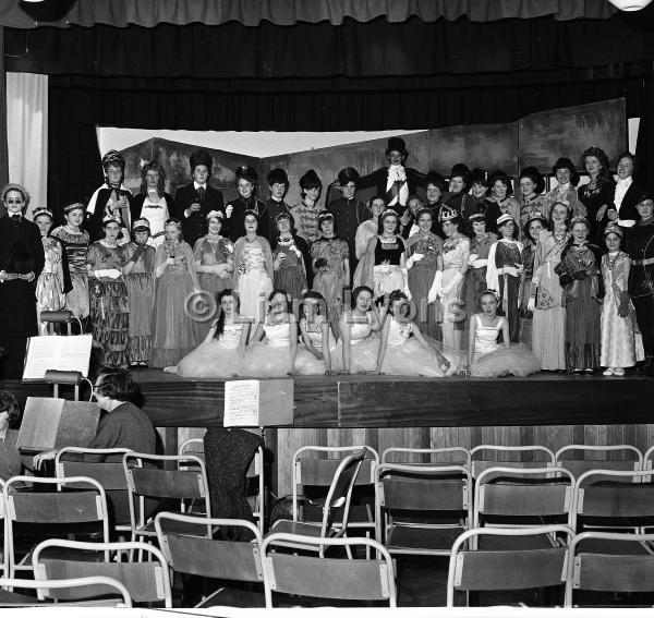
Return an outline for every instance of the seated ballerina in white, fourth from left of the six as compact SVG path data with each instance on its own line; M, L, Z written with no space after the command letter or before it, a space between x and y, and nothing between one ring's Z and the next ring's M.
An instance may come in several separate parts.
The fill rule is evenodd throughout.
M352 291L352 308L339 319L340 340L332 358L342 352L342 373L374 374L377 366L379 338L373 335L382 328L373 290L360 286Z

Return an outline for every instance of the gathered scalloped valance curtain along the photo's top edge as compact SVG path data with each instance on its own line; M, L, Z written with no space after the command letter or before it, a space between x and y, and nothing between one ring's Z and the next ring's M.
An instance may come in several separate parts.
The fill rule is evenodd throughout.
M48 0L26 5L20 0L0 2L0 24L34 28L41 24L92 27L130 24L153 27L168 23L220 25L238 22L257 26L263 22L290 26L346 19L370 22L383 17L404 22L416 16L424 22L468 16L474 22L553 15L556 20L607 19L616 9L606 0Z

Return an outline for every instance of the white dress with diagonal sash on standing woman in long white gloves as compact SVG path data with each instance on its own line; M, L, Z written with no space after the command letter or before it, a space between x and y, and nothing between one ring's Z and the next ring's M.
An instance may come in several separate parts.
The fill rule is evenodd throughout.
M443 288L449 286L459 269L470 260L470 239L463 234L449 237L443 244ZM465 329L463 280L440 295L443 303L443 347L461 350Z

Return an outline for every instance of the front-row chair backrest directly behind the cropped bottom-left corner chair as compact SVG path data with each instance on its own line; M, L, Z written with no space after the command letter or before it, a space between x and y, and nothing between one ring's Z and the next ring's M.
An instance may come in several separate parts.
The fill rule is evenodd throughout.
M51 547L68 548L75 552L102 552L109 557L117 552L138 550L146 555L146 560L117 562L110 559L102 561L66 559L64 557L55 557L47 552ZM45 552L44 556L41 554ZM34 567L34 577L36 580L51 579L74 579L86 575L105 575L121 582L129 591L130 596L136 603L164 603L166 607L172 607L172 594L170 589L170 577L168 565L161 552L147 543L128 542L128 543L83 543L78 541L62 541L50 538L40 543L32 556ZM102 589L94 591L92 594L100 595ZM85 591L89 594L88 590ZM106 594L106 593L105 593ZM39 593L40 595L40 593ZM50 591L49 596L62 601L73 601L78 598L76 592L61 591L55 593Z

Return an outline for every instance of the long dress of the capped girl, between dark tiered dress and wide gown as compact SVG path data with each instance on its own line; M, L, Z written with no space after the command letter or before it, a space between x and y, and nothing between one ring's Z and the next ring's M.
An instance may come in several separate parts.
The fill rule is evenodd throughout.
M134 258L138 245L125 245L126 258ZM153 348L153 306L155 303L154 246L144 246L136 256L134 267L124 276L130 304L130 336L128 358L132 363L147 363Z

